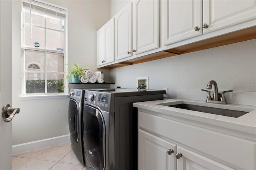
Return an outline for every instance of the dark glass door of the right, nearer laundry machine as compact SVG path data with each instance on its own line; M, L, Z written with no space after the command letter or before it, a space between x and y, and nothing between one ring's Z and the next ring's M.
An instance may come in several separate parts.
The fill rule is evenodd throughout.
M105 123L100 110L85 105L83 130L84 150L88 161L95 170L105 169Z

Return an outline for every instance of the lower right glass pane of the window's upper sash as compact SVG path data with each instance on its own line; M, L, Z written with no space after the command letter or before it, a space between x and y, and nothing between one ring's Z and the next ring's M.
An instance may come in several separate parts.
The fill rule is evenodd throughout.
M46 30L46 46L47 49L57 50L57 48L63 49L64 39L62 32L54 30Z

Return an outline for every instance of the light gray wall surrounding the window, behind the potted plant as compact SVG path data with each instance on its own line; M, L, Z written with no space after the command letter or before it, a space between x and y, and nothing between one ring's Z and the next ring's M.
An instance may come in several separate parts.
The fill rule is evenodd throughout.
M97 30L110 19L110 1L63 0L47 1L68 10L68 62L87 65L91 71L104 71L104 80L110 81L110 70L97 69ZM13 145L62 136L68 130L68 97L62 99L20 100L21 96L21 1L13 1L12 106L20 113L12 120ZM15 50L16 49L16 50Z

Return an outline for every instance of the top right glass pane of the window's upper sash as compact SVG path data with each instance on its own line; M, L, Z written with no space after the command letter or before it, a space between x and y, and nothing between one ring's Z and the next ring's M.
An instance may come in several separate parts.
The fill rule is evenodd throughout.
M47 16L46 27L60 31L64 30L64 20L60 18L60 13L56 12L56 17Z

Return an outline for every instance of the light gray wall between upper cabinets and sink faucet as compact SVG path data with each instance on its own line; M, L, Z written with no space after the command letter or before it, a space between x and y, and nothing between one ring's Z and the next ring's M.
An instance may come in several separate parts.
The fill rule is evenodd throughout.
M149 77L150 89L206 89L215 80L220 90L256 91L256 40L234 43L112 69L116 86L134 88L136 77Z

